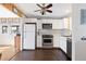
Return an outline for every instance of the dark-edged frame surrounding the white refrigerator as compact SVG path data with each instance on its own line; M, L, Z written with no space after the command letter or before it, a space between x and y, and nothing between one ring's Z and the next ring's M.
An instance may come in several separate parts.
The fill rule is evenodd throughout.
M35 25L35 49L37 47L37 23L23 23L23 39L22 39L22 50L25 50L24 49L24 24L34 24Z

